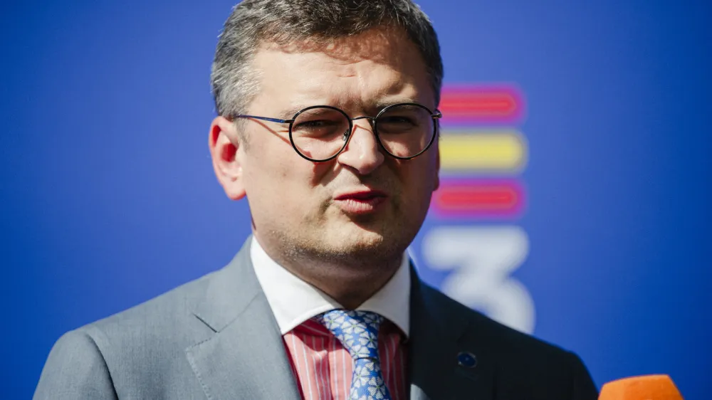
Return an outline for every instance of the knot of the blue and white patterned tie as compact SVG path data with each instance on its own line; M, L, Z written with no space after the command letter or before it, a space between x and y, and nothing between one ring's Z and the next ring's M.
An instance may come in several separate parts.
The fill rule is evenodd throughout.
M331 310L316 319L341 342L353 359L378 359L378 329L384 318L375 312Z

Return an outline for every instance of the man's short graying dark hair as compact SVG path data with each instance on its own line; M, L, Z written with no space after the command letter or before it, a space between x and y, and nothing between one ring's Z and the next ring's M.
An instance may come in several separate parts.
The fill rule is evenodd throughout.
M355 36L372 28L402 28L419 49L440 100L443 63L428 16L411 0L244 0L220 34L211 71L219 115L244 114L258 92L259 71L251 60L262 43L320 41Z

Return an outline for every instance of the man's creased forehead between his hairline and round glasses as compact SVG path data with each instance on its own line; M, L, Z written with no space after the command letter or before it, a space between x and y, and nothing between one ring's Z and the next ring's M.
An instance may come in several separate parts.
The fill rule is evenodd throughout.
M398 100L434 107L424 60L396 28L330 41L267 43L253 68L261 75L253 112L293 115L310 105L367 109Z

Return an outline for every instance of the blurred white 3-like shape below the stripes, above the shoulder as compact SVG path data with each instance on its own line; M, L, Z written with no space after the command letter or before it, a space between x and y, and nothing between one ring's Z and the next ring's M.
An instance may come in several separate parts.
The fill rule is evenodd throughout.
M518 226L433 228L423 240L424 260L436 270L453 270L441 290L493 320L534 332L529 291L511 273L529 253L529 238Z

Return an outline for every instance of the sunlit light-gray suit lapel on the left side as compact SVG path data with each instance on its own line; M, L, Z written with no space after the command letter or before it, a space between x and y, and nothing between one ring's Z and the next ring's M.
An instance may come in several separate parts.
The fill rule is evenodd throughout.
M214 334L186 349L210 399L300 399L272 310L250 259L248 238L222 270L210 275L194 315Z

